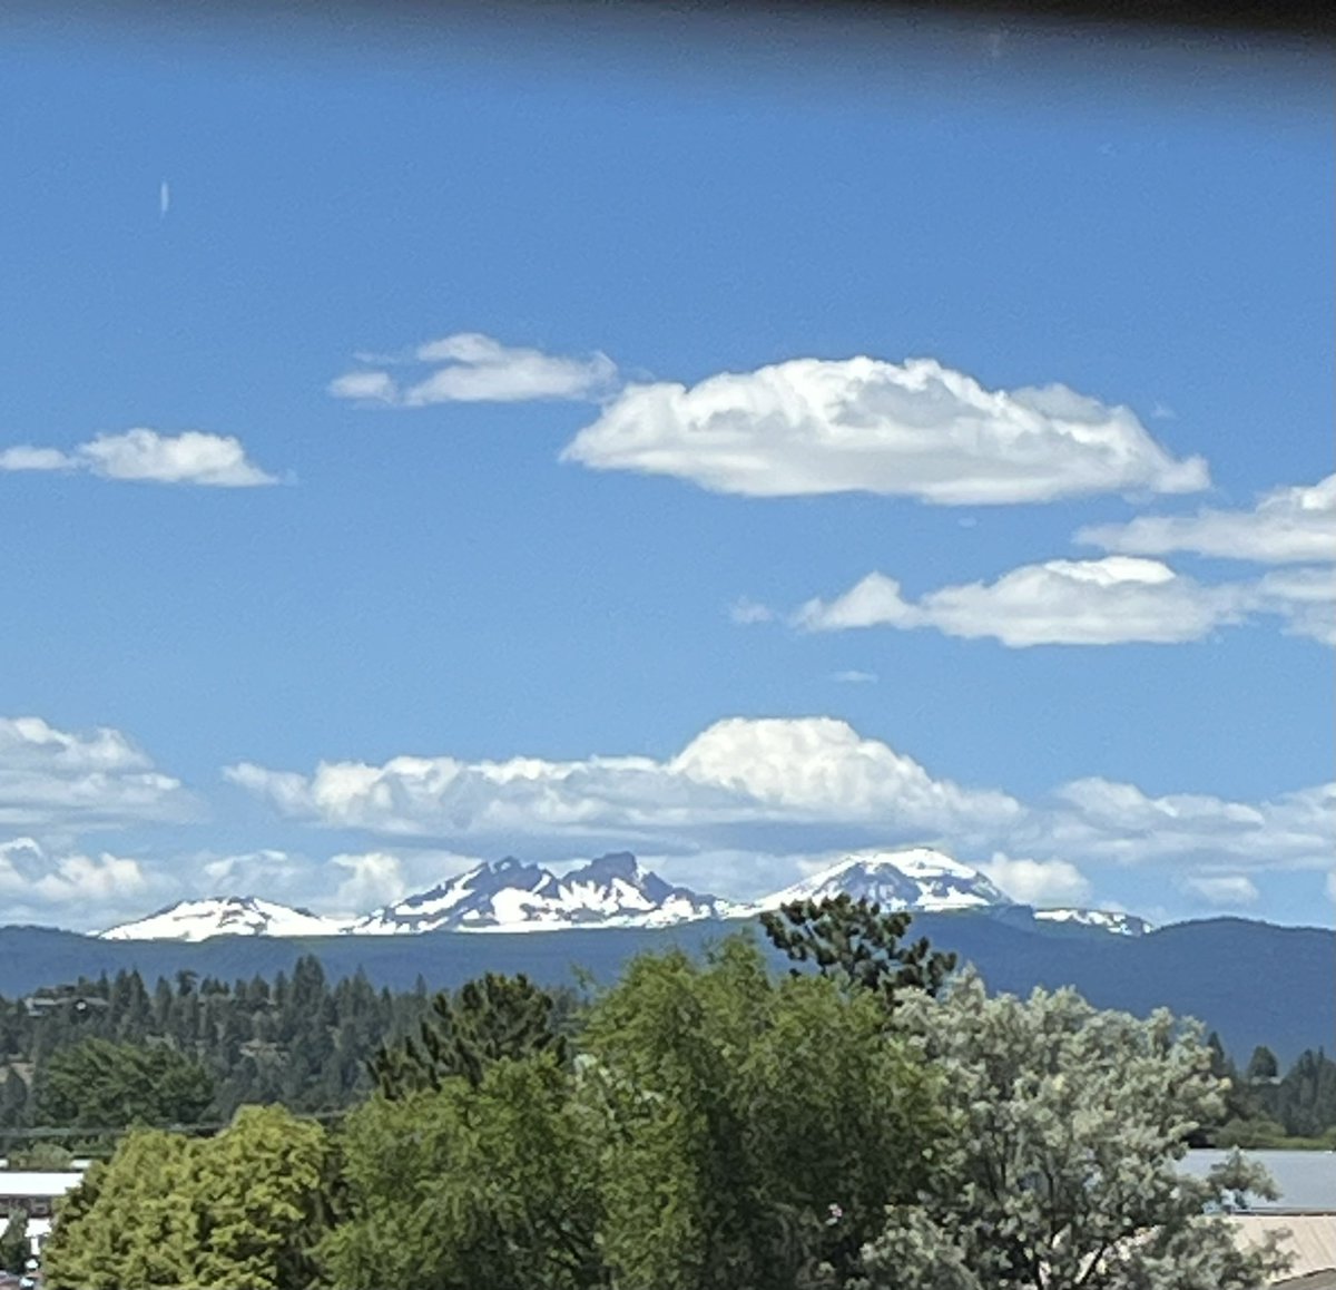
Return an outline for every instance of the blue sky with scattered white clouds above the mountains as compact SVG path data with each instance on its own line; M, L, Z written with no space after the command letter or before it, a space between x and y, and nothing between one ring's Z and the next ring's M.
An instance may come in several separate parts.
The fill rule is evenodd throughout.
M1329 72L665 23L15 23L11 917L929 841L1329 922Z

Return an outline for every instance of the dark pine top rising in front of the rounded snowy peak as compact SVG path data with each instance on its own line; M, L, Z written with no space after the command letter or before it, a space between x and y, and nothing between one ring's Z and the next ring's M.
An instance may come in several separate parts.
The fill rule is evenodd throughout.
M900 944L912 916L847 894L794 901L760 921L775 948L795 962L875 991L890 1005L906 989L937 995L955 969L955 954L934 950L927 937Z

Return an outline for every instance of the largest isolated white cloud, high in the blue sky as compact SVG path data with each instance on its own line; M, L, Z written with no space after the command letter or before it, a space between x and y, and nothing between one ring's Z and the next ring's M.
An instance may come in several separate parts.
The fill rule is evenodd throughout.
M1062 385L987 390L933 360L798 358L687 388L631 385L562 453L752 497L868 492L942 505L1194 492L1136 414Z

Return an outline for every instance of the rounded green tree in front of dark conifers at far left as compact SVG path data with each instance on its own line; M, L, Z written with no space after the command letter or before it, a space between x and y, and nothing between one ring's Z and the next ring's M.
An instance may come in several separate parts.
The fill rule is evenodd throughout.
M52 1053L36 1092L43 1124L192 1124L212 1102L214 1080L174 1048L90 1039Z

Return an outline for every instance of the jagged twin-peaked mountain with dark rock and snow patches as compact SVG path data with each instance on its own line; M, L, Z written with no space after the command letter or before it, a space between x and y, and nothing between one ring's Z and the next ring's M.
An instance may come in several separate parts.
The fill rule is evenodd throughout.
M617 852L560 877L506 857L387 905L349 932L391 936L414 932L538 932L558 928L661 928L728 917L727 902L672 886L635 856Z

